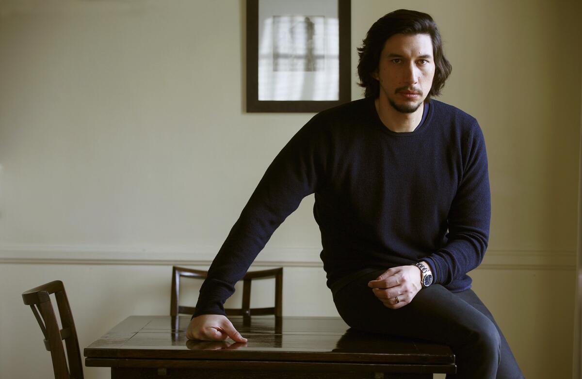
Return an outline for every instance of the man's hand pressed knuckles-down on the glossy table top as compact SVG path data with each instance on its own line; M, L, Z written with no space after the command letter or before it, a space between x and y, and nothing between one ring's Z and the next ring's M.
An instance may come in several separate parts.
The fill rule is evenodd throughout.
M186 331L188 339L205 341L224 341L230 337L235 342L247 342L235 329L229 319L222 314L201 314L190 321Z

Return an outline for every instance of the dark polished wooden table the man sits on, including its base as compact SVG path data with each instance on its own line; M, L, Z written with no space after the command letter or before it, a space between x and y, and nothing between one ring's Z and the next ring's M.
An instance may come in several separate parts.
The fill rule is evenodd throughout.
M432 378L455 373L446 345L350 330L335 317L230 317L247 344L189 341L190 317L132 316L87 346L112 378Z

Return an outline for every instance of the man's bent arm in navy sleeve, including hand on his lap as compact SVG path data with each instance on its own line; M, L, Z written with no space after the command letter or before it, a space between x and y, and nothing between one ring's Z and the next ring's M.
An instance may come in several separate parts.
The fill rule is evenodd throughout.
M465 141L462 178L448 215L448 242L422 262L432 269L433 283L442 285L475 269L483 260L489 239L491 191L487 151L477 121ZM421 271L412 265L393 267L370 281L368 287L388 308L402 308L422 288Z

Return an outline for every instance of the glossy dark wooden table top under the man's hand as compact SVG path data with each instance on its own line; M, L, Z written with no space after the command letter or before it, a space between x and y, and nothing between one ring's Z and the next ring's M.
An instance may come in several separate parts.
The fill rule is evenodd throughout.
M262 360L445 364L455 362L442 344L353 331L339 317L229 317L246 344L191 341L189 316L131 316L84 349L87 359Z

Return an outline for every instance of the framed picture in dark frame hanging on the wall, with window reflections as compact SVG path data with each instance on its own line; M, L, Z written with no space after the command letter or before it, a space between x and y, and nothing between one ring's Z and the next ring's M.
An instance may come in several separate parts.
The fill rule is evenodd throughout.
M350 0L247 0L247 112L349 102Z

